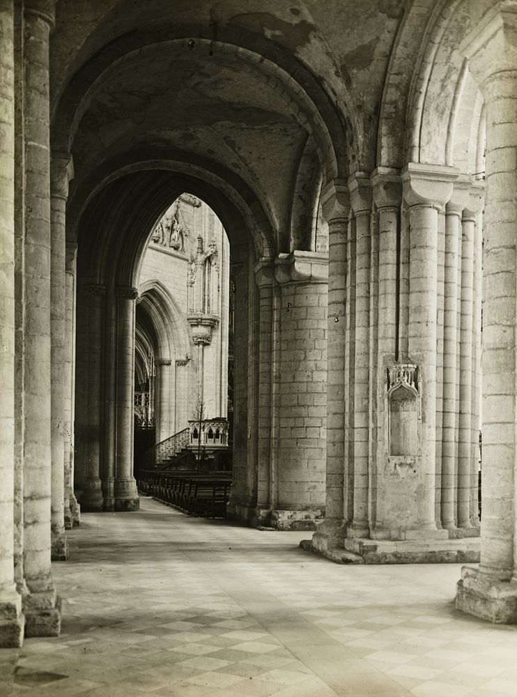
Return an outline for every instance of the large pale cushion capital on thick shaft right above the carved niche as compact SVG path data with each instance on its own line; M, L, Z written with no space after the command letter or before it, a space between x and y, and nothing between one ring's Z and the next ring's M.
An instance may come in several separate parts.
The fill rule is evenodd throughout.
M402 172L403 197L410 206L441 209L451 198L459 173L445 164L410 162Z

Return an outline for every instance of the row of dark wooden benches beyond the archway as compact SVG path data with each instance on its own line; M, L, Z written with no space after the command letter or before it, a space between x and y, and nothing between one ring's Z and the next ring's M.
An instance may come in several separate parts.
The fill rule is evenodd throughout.
M208 518L226 518L231 475L228 472L171 472L151 470L141 473L138 486L148 496L184 513Z

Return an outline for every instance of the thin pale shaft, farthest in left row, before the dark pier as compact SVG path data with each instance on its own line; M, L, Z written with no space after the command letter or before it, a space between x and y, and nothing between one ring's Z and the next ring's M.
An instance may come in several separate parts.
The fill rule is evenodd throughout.
M66 243L65 257L65 354L63 400L65 413L65 530L79 525L81 510L74 492L75 454L75 277L77 243Z

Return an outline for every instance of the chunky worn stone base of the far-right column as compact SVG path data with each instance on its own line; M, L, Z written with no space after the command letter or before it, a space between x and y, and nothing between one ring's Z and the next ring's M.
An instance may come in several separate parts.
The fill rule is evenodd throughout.
M517 622L517 581L499 581L463 567L456 585L456 608L497 624Z

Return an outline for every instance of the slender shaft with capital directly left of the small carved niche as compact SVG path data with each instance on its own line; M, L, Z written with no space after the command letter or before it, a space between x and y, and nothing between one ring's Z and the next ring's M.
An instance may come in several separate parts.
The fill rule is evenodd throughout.
M377 469L372 475L371 499L374 528L371 537L389 537L385 521L387 509L393 507L392 482L383 477L385 461L385 374L399 360L399 250L402 181L398 170L378 167L372 176L373 199L378 211L378 351L377 376Z

